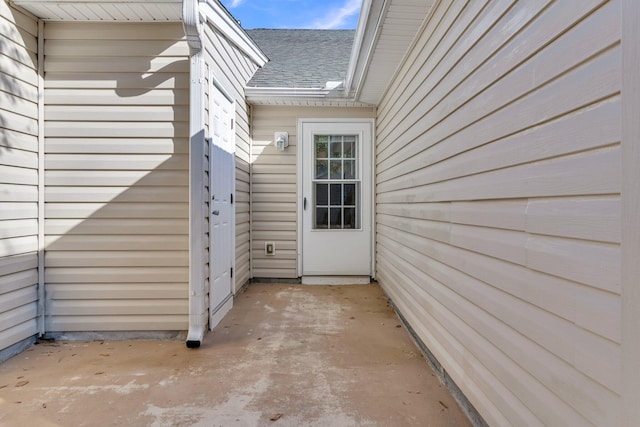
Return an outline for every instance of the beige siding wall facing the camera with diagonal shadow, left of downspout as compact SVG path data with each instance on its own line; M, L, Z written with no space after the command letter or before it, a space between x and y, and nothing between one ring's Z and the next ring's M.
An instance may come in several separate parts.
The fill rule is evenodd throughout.
M47 331L186 330L182 26L48 22L44 67Z

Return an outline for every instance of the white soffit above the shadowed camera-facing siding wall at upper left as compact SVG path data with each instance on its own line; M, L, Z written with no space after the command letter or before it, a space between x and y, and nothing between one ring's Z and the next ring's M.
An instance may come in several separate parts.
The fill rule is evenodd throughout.
M182 20L182 0L13 0L12 3L48 21Z

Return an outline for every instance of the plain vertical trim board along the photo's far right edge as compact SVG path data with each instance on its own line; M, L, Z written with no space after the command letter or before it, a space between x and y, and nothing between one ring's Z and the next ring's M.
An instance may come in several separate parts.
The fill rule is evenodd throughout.
M640 2L622 1L622 425L640 419Z

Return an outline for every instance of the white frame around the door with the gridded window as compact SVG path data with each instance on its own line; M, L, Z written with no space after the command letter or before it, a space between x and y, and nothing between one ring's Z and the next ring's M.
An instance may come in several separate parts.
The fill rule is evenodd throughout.
M304 182L303 182L303 164L304 164L304 158L303 158L303 145L305 143L304 141L304 136L303 136L303 131L302 131L302 127L304 124L310 124L310 123L323 123L323 124L327 124L327 123L358 123L358 124L369 124L369 126L371 126L371 156L369 159L365 159L363 158L362 161L369 161L371 162L371 174L369 177L367 177L370 180L370 190L371 190L371 204L370 206L368 206L369 209L371 209L371 235L370 235L370 248L371 248L371 278L375 279L375 274L376 274L376 257L375 257L375 235L376 235L376 198L375 198L375 176L376 176L376 168L375 168L375 147L376 147L376 141L375 141L375 120L374 119L360 119L360 118L354 118L354 119L345 119L345 118L339 118L339 119L331 119L331 118L323 118L323 119L314 119L314 118L301 118L298 119L298 141L297 141L297 152L296 152L296 162L297 162L297 182L296 182L296 190L297 190L297 196L296 196L296 200L297 200L297 211L298 211L298 216L297 216L297 224L296 224L296 237L297 237L297 258L298 258L298 263L297 263L297 276L301 277L302 276L302 238L303 238L303 186L304 186ZM364 179L364 177L363 177ZM363 209L367 208L365 206L362 207Z

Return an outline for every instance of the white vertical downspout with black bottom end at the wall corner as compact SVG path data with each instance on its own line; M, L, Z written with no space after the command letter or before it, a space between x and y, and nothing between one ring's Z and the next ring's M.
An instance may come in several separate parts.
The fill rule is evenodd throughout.
M204 52L198 0L183 0L182 22L189 44L189 331L187 347L197 348L207 328L204 246Z

